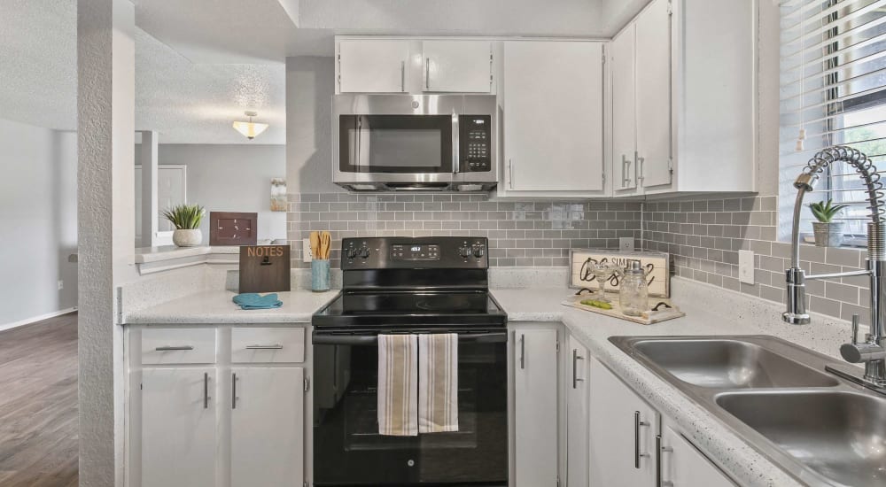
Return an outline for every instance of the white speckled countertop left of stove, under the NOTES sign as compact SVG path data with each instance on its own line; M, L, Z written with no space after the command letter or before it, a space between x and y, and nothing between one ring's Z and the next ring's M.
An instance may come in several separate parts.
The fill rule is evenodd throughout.
M206 290L126 313L123 316L123 323L127 325L309 323L311 315L335 298L338 291L278 292L277 295L283 301L283 306L267 310L241 310L231 300L236 295L237 293L227 290Z

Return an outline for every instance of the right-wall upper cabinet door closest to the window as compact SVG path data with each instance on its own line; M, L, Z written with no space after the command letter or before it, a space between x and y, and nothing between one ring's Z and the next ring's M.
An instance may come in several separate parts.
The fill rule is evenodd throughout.
M636 20L637 152L644 188L671 184L671 15L653 0Z

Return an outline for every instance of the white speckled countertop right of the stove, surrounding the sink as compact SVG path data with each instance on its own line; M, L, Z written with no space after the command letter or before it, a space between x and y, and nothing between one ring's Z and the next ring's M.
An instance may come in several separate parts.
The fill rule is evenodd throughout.
M836 357L849 336L842 321L813 315L810 326L781 322L781 305L706 284L674 278L673 297L686 317L639 325L560 305L571 290L494 290L509 321L563 321L591 356L609 367L659 413L673 420L711 460L741 485L795 487L804 485L754 450L732 429L680 390L659 379L609 341L610 336L772 335Z

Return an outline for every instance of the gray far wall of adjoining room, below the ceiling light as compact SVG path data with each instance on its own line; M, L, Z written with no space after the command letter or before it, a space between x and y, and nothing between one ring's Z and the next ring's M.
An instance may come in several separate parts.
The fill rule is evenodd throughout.
M163 144L162 134L159 139L159 164L188 166L188 203L206 207L204 243L209 212L259 213L260 239L286 238L286 213L270 211L271 178L286 177L284 145ZM136 151L136 164L140 158Z

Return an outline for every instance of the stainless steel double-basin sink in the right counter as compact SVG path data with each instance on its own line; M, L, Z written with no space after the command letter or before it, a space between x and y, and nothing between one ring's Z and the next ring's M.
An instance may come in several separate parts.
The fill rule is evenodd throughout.
M612 336L758 452L813 486L886 485L886 396L774 336Z

